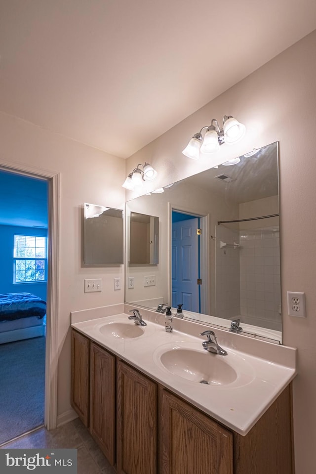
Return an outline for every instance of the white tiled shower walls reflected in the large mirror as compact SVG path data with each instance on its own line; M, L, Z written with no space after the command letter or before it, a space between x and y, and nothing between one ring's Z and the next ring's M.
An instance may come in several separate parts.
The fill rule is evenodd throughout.
M216 228L216 316L281 330L278 227ZM230 244L220 248L220 242ZM235 248L232 244L239 243Z

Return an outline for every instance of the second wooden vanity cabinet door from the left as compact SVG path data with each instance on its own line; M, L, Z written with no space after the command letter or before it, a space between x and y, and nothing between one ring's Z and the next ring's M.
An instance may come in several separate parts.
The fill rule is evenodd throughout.
M115 464L115 356L91 342L90 433Z

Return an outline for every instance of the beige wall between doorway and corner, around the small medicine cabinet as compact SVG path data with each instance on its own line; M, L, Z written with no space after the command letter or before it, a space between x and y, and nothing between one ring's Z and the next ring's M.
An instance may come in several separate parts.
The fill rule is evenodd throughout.
M81 266L81 208L84 202L123 209L125 160L23 120L0 113L0 164L21 163L59 172L60 267L58 312L58 415L70 410L70 312L124 301L123 265ZM114 292L113 278L122 289ZM84 293L85 278L102 278L103 291Z

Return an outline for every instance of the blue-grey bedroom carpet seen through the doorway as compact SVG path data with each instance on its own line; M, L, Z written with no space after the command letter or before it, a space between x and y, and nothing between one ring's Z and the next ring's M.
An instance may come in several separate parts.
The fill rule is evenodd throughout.
M45 338L0 345L0 444L44 422Z

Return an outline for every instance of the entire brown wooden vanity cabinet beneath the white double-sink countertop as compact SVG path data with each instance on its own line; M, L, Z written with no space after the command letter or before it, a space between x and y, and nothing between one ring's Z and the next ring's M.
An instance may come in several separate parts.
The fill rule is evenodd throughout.
M72 331L71 404L118 474L293 474L291 400L242 436Z

